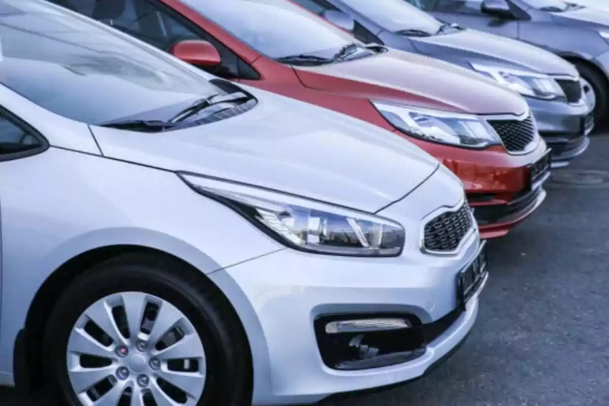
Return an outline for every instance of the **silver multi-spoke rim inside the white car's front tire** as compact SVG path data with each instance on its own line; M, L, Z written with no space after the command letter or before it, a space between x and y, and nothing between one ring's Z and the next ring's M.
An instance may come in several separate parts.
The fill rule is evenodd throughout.
M206 358L191 321L142 292L105 296L72 328L68 377L85 406L195 406Z

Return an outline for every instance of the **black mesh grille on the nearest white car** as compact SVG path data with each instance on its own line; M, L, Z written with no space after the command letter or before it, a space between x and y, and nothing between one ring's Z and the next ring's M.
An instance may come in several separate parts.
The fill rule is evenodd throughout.
M424 248L436 252L456 250L472 223L467 203L463 203L457 211L438 215L425 225Z

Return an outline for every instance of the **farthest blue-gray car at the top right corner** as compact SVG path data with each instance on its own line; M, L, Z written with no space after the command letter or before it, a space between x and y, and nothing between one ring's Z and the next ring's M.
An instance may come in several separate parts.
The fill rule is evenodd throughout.
M437 18L543 47L573 63L607 122L609 11L563 0L404 0ZM578 4L575 4L578 3Z

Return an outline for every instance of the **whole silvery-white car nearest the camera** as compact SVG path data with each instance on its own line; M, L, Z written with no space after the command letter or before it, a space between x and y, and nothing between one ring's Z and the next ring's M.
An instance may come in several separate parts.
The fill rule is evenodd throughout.
M0 38L0 385L297 404L465 339L484 244L431 156L40 0Z

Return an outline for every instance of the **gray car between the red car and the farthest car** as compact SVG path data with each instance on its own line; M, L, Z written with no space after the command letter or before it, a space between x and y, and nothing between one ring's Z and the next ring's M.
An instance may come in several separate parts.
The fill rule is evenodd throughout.
M535 46L438 21L403 0L294 0L362 41L455 63L522 94L552 148L554 167L583 153L594 127L579 74ZM472 89L475 91L475 89Z

